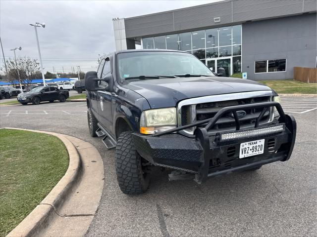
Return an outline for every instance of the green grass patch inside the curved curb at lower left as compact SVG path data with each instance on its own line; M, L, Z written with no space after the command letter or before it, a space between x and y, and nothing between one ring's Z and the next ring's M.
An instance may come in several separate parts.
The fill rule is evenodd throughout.
M16 227L63 177L67 150L58 138L0 129L0 236Z

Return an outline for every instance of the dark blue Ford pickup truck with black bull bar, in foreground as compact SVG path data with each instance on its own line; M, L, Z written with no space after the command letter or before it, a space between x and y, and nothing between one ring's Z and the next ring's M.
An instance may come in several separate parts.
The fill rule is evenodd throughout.
M246 79L215 76L194 55L127 50L85 76L91 136L115 149L125 194L145 192L153 166L169 179L202 183L290 158L296 121L276 92Z

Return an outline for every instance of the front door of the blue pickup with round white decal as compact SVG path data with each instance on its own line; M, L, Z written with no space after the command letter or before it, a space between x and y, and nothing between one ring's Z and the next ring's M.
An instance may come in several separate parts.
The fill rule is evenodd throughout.
M109 58L106 58L105 66L102 72L101 78L104 78L109 73L111 73L110 70L110 61ZM106 88L108 86L108 83L106 81L101 80L99 82L99 86ZM111 111L111 98L112 95L110 92L106 90L99 90L98 92L98 113L99 113L99 121L104 125L104 127L107 129L108 132L113 134L112 131L112 111Z

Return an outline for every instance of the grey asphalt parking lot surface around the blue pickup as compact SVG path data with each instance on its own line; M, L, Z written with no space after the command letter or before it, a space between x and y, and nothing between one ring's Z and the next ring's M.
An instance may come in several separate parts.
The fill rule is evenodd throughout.
M317 98L282 97L282 106L298 125L290 160L202 185L169 182L165 171L154 169L148 192L138 196L121 193L114 152L89 136L85 102L0 107L0 126L68 134L97 147L105 186L87 237L317 236Z

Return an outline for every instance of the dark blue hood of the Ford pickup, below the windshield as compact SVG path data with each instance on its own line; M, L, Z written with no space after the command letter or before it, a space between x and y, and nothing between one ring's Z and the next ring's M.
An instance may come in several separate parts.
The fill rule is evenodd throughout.
M175 107L178 101L194 97L271 90L256 81L223 77L148 79L123 86L147 99L152 109Z

